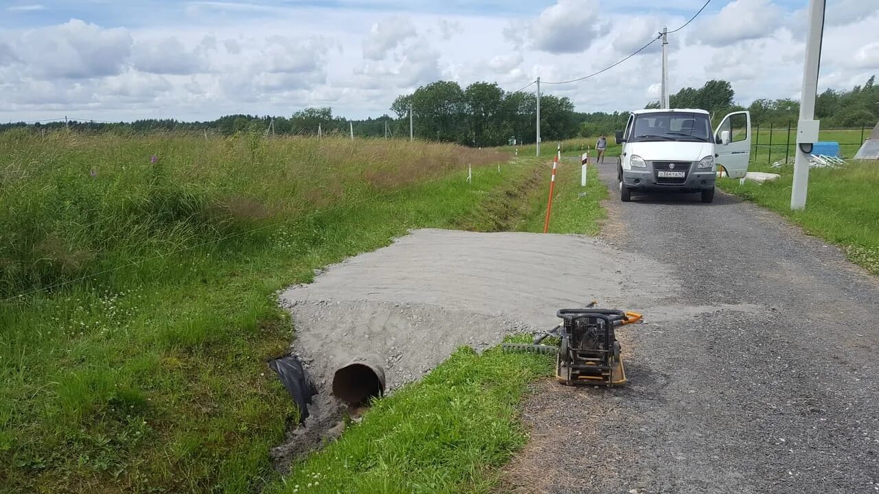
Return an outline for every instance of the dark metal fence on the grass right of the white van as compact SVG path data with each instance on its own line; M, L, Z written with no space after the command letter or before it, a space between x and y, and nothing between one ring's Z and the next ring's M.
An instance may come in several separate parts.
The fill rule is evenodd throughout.
M753 150L751 161L757 162L763 159L766 154L766 164L773 163L773 156L776 160L781 160L784 156L784 162L788 163L790 156L794 156L794 146L796 145L796 127L793 120L788 120L788 125L776 127L774 123L768 126L764 125L761 129L757 124L754 130ZM851 157L858 152L861 144L864 143L869 135L872 127L847 127L847 128L822 128L819 139L821 141L839 142L839 151L842 157ZM860 136L858 142L854 139ZM846 141L840 140L844 138Z

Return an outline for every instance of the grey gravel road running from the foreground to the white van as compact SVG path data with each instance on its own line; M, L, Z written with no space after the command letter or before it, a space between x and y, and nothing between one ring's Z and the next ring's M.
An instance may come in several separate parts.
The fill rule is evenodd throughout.
M673 286L627 301L648 323L621 337L626 387L535 386L500 491L879 491L875 278L727 194L612 198L607 242Z

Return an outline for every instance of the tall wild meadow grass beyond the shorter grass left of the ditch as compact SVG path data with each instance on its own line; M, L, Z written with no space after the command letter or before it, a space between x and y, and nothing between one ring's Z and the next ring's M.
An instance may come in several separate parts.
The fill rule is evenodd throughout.
M3 297L498 159L421 142L26 129L0 149Z

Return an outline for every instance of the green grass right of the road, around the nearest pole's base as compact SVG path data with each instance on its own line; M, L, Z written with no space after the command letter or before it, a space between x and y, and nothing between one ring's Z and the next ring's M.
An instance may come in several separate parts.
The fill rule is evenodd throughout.
M780 169L753 164L751 171L769 171L781 178L758 185L723 178L723 190L751 200L785 216L803 227L809 235L836 243L852 262L879 274L879 166L876 163L849 163L837 169L813 169L809 172L806 208L791 211L793 167Z

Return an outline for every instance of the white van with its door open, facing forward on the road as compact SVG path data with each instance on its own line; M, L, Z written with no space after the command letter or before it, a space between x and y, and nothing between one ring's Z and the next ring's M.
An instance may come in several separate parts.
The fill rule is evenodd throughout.
M751 157L751 114L726 115L714 132L705 110L638 110L616 133L620 199L633 193L700 193L714 200L718 169L744 178Z

